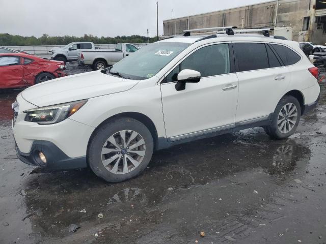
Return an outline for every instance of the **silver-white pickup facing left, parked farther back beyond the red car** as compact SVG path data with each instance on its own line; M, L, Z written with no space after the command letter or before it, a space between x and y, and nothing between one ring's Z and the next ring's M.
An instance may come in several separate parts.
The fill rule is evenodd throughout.
M78 59L78 52L95 50L96 47L92 42L71 42L64 47L53 47L49 50L51 59L67 62Z

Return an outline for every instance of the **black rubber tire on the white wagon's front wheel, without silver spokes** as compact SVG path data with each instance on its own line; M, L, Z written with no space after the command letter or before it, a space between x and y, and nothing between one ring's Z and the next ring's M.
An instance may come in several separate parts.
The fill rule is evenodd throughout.
M129 171L127 173L121 173L121 171L124 169L123 159L122 161L120 161L121 159L119 158L118 164L117 164L118 160L113 161L112 164L110 164L110 166L108 167L107 166L105 167L102 163L102 157L104 157L103 160L105 160L106 157L102 155L102 148L105 145L105 143L107 143L108 138L110 138L113 135L117 135L116 133L119 133L120 131L124 131L124 130L137 132L144 139L146 145L145 155L140 161L140 164L138 166L133 167L134 165L131 164L130 160L127 161L128 156L126 156L125 160L129 163L128 167L133 167L132 170L130 171L129 168L127 167ZM127 137L125 141L127 141ZM116 141L116 143L119 145L119 142ZM107 145L108 144L106 144L106 146ZM115 156L119 154L121 155L121 157L123 157L123 155L125 155L125 152L123 153L122 150L123 149L121 149L121 152L112 153L112 154L114 154ZM101 177L107 182L121 182L139 175L147 167L149 161L151 160L153 150L154 150L153 137L150 131L148 130L148 128L143 123L141 123L140 121L134 118L122 117L111 121L109 120L107 123L101 125L96 130L89 143L87 160L91 169L97 176ZM129 156L131 156L131 154ZM138 156L136 155L135 157L137 158ZM118 165L117 168L120 167L120 171L119 171L120 173L113 173L110 171L113 170L114 165L116 164Z

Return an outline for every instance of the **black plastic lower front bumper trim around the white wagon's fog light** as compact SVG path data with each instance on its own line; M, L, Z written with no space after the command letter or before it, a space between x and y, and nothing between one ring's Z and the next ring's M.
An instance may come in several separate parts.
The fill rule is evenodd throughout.
M45 155L46 164L39 157L40 151ZM59 147L50 141L36 140L30 153L22 153L16 144L17 157L25 164L47 169L75 169L87 167L86 156L69 158Z

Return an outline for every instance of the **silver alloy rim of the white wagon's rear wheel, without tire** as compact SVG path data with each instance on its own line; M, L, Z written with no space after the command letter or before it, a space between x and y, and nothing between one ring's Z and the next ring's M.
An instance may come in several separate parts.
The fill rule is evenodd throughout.
M297 108L293 103L285 104L279 112L277 126L283 134L289 133L296 124Z

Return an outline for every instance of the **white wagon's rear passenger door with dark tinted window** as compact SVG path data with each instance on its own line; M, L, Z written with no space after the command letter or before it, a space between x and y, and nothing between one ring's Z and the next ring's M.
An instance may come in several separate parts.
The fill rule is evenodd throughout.
M265 120L273 113L290 82L290 73L269 44L233 42L239 97L238 125Z

